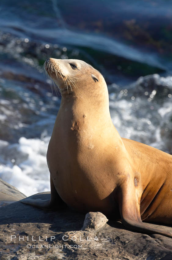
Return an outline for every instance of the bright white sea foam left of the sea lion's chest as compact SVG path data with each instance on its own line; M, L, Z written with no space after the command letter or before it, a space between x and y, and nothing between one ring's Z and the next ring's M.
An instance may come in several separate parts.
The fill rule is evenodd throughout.
M5 142L2 148L3 157L0 158L2 161L0 177L27 196L50 191L49 170L46 163L48 143L49 137L43 140L21 137L19 143L15 145Z

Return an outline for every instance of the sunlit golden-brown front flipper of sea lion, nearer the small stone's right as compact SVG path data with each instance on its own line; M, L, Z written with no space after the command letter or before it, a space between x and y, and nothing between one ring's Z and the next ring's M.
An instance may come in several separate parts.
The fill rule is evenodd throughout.
M121 189L118 196L119 211L122 223L126 228L142 233L159 234L172 238L172 233L152 228L143 223L140 216L140 204L138 202L134 187Z

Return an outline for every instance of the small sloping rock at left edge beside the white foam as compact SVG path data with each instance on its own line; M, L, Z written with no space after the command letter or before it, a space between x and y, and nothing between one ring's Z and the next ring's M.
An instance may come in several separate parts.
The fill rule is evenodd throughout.
M0 207L24 198L23 193L0 178Z

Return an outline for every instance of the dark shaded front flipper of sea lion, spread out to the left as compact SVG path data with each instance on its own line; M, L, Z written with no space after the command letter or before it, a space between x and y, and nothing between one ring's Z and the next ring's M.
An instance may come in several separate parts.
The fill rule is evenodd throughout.
M50 175L50 187L51 187L51 199L50 200L26 198L26 199L20 200L20 202L22 202L24 204L32 205L32 206L35 206L38 208L42 208L45 210L51 210L54 208L57 208L57 209L62 208L66 204L58 195L56 188L53 184L51 175Z

